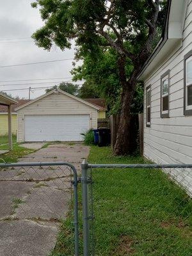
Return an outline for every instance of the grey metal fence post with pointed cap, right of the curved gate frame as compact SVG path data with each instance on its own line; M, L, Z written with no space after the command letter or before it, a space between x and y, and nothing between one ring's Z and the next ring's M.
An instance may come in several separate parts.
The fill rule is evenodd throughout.
M89 256L89 218L88 218L88 163L81 164L82 203L83 203L83 255Z

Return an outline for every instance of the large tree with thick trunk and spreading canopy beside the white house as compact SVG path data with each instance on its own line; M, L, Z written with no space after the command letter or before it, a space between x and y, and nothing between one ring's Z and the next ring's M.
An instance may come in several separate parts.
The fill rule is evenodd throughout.
M33 35L39 47L50 50L52 44L62 50L76 40L79 52L97 52L103 45L118 54L118 77L122 84L120 125L115 154L129 154L129 116L137 77L152 52L158 28L161 28L165 0L36 0L45 24ZM126 74L127 60L132 72Z

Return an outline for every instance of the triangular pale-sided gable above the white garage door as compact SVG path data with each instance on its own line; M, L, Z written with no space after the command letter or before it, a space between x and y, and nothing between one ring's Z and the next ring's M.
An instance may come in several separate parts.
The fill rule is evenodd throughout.
M46 105L49 105L49 107L53 108L59 108L59 107L67 107L67 104L73 108L75 107L81 107L81 106L87 106L88 108L93 108L99 110L99 106L95 106L89 102L86 102L83 99L79 99L78 97L71 95L67 92L63 92L61 90L52 90L49 93L45 93L44 95L36 98L35 100L31 100L30 102L20 106L19 108L16 108L15 110L20 109L31 109L31 108L45 108ZM48 106L47 106L48 107Z

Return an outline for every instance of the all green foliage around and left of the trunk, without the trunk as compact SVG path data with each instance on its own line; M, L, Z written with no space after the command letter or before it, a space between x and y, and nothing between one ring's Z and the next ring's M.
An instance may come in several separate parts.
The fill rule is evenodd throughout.
M157 40L163 28L166 0L159 1ZM121 109L122 84L117 60L126 56L127 80L133 68L138 68L150 54L146 47L155 8L146 0L36 0L31 4L39 8L44 26L34 34L36 45L50 50L53 44L61 50L76 41L76 58L84 61L82 67L72 70L74 80L86 79L80 94L105 97L111 113ZM156 41L157 42L157 40ZM143 60L139 59L141 52ZM128 58L129 57L129 58ZM131 58L131 59L130 59ZM145 60L144 60L145 59ZM139 61L138 61L139 60ZM139 68L138 68L139 69ZM143 92L136 88L133 112L140 111ZM142 87L140 86L140 89ZM88 93L86 93L86 91Z

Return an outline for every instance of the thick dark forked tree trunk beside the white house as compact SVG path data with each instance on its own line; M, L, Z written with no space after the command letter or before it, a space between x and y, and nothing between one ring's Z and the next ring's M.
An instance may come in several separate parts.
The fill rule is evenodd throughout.
M154 40L154 35L156 31L153 31L150 36L148 36L148 41L143 51L140 52L138 58L132 60L134 65L134 70L132 71L129 81L126 79L125 72L125 56L121 56L118 60L118 70L120 83L122 84L122 109L120 113L120 123L118 127L118 133L116 136L116 143L113 152L117 156L124 156L127 154L134 153L135 148L132 147L131 138L131 104L134 96L135 87L137 84L137 76L140 73L141 67L147 60L150 52L152 51L152 41Z

